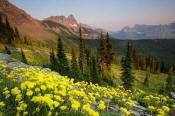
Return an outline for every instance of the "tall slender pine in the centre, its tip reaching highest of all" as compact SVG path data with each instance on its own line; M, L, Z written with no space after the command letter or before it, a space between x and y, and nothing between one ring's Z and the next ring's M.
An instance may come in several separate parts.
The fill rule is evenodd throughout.
M85 72L85 67L86 67L86 56L85 56L85 44L84 40L82 38L82 30L80 26L80 45L79 45L79 65L80 65L80 70L84 73Z

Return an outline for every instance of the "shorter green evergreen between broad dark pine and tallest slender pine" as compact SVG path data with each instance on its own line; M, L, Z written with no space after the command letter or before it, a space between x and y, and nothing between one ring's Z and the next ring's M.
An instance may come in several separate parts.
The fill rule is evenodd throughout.
M72 48L72 60L71 60L71 77L75 78L76 81L81 80L80 69L77 63L77 57L74 49Z

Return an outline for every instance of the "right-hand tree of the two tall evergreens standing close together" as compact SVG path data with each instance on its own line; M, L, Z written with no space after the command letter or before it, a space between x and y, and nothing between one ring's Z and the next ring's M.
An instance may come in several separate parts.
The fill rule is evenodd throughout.
M112 44L110 43L109 34L106 35L106 51L105 51L105 63L108 69L110 69L111 62L113 60Z

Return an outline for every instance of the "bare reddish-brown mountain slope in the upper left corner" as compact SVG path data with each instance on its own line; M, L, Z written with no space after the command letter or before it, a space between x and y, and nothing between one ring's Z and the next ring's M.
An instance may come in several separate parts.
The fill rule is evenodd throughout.
M24 35L29 35L35 39L48 39L53 36L42 27L38 20L8 0L0 0L0 15L7 17L11 25L17 27Z

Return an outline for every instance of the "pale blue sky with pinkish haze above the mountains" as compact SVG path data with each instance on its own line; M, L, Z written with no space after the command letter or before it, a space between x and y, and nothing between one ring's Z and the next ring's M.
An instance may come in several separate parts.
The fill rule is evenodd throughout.
M73 14L79 23L108 31L175 21L175 0L9 0L36 19Z

